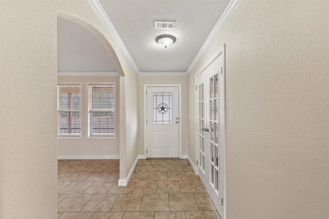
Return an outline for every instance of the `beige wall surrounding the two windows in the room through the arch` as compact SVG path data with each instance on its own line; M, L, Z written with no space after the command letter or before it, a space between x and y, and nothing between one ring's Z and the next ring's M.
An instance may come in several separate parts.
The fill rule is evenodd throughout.
M58 138L59 158L95 158L94 156L115 158L119 156L120 135L120 98L119 98L119 76L58 76L58 82L78 82L82 83L82 139ZM116 83L116 139L91 139L87 138L88 132L88 82L115 82Z

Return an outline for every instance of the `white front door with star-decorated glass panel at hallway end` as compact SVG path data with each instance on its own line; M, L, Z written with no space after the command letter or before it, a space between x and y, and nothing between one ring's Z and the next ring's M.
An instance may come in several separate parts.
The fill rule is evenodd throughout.
M148 157L179 157L178 92L178 87L147 87Z

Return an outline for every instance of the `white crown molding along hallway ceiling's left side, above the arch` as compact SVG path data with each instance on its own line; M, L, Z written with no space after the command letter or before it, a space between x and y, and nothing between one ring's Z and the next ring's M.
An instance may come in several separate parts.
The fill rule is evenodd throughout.
M112 22L109 20L107 14L104 11L100 2L98 0L87 0L87 1L90 4L90 6L92 6L92 8L94 9L97 16L101 19L102 23L104 24L104 26L107 29L107 31L109 32L109 34L111 34L111 36L113 37L114 41L117 43L117 45L120 48L123 55L127 58L128 62L131 64L131 66L137 72L137 74L139 74L139 69L138 69L134 59L130 55L127 48L124 46L118 32L114 28Z

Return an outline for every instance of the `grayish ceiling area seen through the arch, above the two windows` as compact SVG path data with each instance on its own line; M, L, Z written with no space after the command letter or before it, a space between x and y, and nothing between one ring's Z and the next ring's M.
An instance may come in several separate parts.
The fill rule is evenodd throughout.
M57 18L58 72L117 72L96 36L80 25Z

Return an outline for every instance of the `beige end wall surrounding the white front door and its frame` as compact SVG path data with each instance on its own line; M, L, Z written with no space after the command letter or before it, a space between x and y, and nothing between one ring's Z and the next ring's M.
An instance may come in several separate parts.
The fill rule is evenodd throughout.
M144 155L144 85L146 84L181 84L181 151L182 155L188 152L188 77L187 76L138 76L138 131L139 151Z

